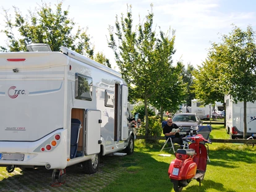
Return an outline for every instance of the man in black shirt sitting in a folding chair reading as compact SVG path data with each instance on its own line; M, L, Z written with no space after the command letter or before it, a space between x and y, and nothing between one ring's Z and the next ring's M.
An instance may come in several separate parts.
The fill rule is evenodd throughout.
M167 124L163 127L163 133L166 139L170 137L173 143L183 144L182 136L179 135L179 130L177 132L172 132L173 128L179 127L177 127L177 125L173 123L173 119L169 117L167 120Z

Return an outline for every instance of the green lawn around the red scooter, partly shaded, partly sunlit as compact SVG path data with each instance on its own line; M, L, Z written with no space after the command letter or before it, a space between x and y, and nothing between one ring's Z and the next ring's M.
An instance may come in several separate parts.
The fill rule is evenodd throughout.
M229 136L223 125L213 125L210 138L226 139ZM164 140L159 144L147 145L143 140L136 140L134 154L123 157L123 166L127 166L127 172L123 177L109 183L101 192L174 191L173 183L168 177L169 163L174 159L174 154L168 150L160 152L163 143ZM196 180L192 180L182 191L256 191L256 147L213 143L209 144L209 149L210 162L201 186ZM171 154L171 157L158 156L163 153Z

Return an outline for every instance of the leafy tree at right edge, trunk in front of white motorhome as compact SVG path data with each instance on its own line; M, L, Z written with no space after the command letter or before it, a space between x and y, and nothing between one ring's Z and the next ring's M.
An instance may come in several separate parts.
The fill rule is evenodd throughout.
M246 31L234 26L232 33L223 35L225 45L223 68L226 76L227 93L234 102L244 102L244 139L247 135L247 102L256 100L256 44L255 31L248 26Z

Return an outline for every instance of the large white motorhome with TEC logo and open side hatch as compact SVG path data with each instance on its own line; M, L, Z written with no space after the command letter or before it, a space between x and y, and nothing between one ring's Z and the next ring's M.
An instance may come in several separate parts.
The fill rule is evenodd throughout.
M0 166L95 173L101 155L134 151L127 84L77 52L0 53Z

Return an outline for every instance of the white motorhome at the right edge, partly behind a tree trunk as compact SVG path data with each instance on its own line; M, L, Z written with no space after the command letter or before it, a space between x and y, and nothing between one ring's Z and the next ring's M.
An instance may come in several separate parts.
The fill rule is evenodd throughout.
M226 131L230 138L242 138L244 135L244 102L233 103L230 95L226 101ZM247 137L256 138L256 102L247 102L246 107Z

